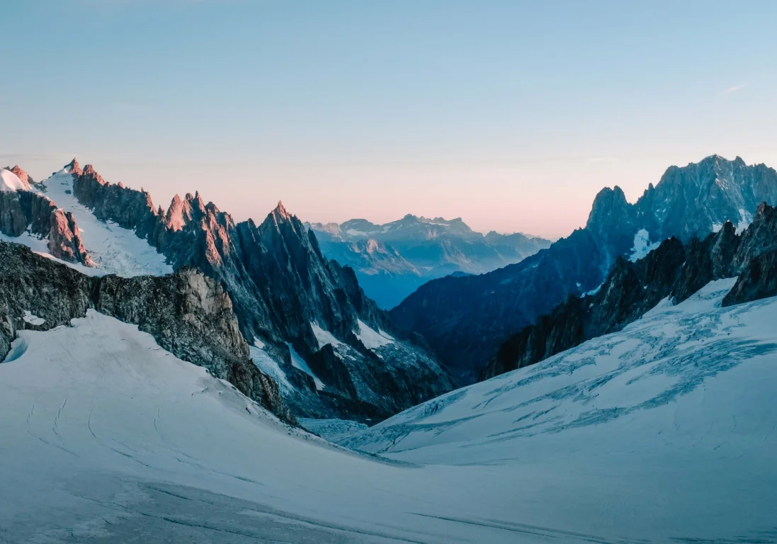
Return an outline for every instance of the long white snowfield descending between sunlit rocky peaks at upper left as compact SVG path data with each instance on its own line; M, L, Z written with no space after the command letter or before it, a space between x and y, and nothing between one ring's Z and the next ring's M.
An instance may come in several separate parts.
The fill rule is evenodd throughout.
M86 251L96 268L124 277L162 276L172 272L165 256L157 253L145 239L113 222L99 221L88 207L79 204L72 194L73 176L64 169L45 180L44 186L47 197L75 216Z

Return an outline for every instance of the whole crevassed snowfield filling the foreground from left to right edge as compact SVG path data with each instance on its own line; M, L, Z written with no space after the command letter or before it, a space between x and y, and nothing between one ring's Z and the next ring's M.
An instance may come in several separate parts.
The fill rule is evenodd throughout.
M0 364L0 542L777 542L777 300L720 309L726 288L333 427L366 453L96 312L25 331Z

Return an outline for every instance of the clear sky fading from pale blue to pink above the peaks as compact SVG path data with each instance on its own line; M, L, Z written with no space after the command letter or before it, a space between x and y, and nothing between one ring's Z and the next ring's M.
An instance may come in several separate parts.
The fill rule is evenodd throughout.
M557 237L718 153L777 166L777 2L2 2L0 163L237 220Z

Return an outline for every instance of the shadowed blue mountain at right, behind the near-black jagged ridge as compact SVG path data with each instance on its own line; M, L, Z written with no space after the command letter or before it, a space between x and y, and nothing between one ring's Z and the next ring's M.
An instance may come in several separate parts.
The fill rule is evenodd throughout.
M473 382L503 341L570 295L597 289L618 256L636 260L669 236L688 242L726 221L742 228L762 201L777 204L777 173L765 165L712 155L672 166L635 204L619 187L601 190L585 228L500 270L430 281L391 316L426 337L462 382Z

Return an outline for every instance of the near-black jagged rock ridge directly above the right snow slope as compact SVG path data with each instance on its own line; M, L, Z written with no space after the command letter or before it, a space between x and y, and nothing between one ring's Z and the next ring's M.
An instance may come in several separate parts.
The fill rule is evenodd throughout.
M752 225L737 235L726 222L705 239L683 246L671 238L643 259L618 258L594 295L570 297L502 344L479 379L535 364L591 338L621 330L661 299L682 302L709 281L739 276L723 305L777 295L777 213L758 206Z

